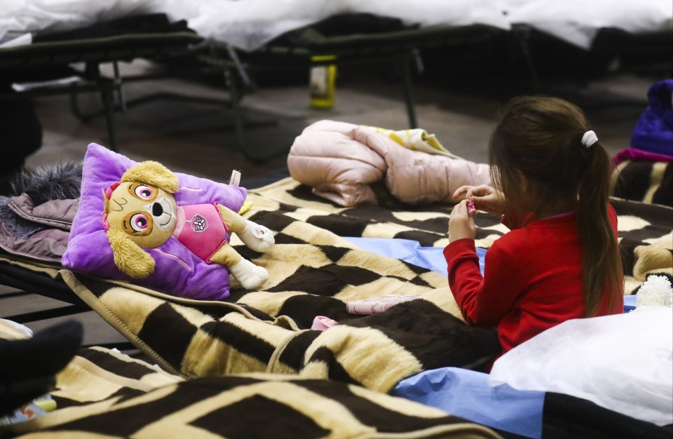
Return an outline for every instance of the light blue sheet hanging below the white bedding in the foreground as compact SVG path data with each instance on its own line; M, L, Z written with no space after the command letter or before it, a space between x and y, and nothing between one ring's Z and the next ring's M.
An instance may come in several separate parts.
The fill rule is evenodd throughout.
M545 392L491 387L488 374L458 367L426 370L400 381L391 392L454 416L527 438L542 436Z

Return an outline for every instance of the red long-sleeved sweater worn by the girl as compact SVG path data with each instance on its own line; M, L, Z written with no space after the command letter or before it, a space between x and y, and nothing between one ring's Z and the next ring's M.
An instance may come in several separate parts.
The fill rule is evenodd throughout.
M608 206L613 233L617 214ZM484 259L484 276L473 239L444 248L449 286L465 320L498 327L503 353L571 318L585 317L582 246L576 212L522 224L494 241ZM621 297L621 296L620 296ZM623 312L623 297L597 315Z

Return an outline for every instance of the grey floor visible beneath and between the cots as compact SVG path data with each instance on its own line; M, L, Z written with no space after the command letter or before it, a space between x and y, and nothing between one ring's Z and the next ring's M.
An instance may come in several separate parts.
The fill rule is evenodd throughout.
M123 74L145 72L146 62L123 65ZM308 73L306 73L308 82ZM631 131L647 105L646 93L657 76L616 74L590 81L585 86L571 81L543 79L543 93L564 97L583 107L601 142L612 153L630 147ZM292 81L291 81L292 82ZM226 100L226 91L212 82L161 79L133 82L125 86L128 99L154 92L179 92L186 95ZM414 83L419 126L435 133L447 149L477 162L487 161L487 142L497 109L509 97L526 91L526 81L493 83L489 78L446 76L426 79L417 76ZM95 95L81 97L83 109L98 109ZM252 154L275 156L256 163L242 153L231 129L231 118L224 105L196 104L177 100L154 100L116 115L118 150L136 161L156 160L168 168L212 180L226 181L231 170L246 180L285 168L287 151L294 137L320 119L334 119L385 128L408 128L404 95L400 81L376 74L376 71L340 72L334 109L309 107L308 86L302 79L289 85L266 85L243 101L248 122L269 122L246 129L247 147ZM60 161L81 161L87 144L109 146L105 120L95 118L82 123L69 111L67 97L36 100L35 108L43 126L43 146L27 158L34 168ZM0 286L0 316L58 306L59 302L39 295L15 295ZM64 317L29 323L41 330ZM122 342L93 311L74 317L85 329L84 344Z

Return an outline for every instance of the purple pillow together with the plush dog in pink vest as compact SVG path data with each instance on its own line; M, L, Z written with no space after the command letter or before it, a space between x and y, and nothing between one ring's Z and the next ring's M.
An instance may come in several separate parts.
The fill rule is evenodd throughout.
M238 215L246 194L92 143L62 264L191 299L228 297L230 273L243 288L257 288L266 269L229 245L231 232L258 252L273 245L271 231Z

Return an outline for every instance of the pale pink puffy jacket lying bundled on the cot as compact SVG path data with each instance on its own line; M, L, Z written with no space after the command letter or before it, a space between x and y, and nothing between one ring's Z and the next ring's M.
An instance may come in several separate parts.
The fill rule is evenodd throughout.
M455 203L465 184L490 184L489 166L412 151L372 128L318 121L297 136L287 157L294 180L338 205L377 204L369 184L384 176L390 194L412 205Z

